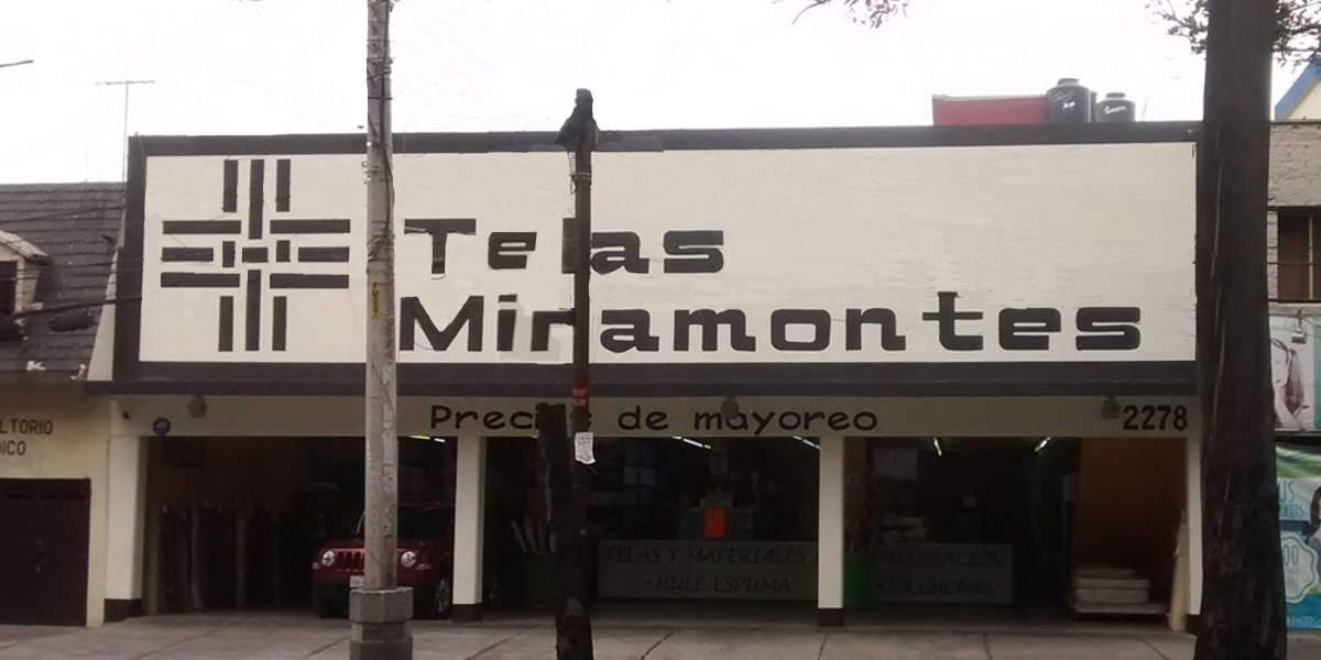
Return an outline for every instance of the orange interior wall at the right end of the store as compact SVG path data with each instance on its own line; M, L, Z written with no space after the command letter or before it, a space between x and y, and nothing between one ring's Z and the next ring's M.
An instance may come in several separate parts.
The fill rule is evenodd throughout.
M1168 598L1184 483L1184 438L1085 438L1074 564L1137 569Z

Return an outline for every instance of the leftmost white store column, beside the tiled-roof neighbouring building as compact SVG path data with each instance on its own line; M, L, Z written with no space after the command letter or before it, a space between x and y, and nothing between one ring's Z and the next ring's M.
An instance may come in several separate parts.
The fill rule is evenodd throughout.
M106 491L106 622L143 614L143 548L147 525L147 438L123 433L111 407Z

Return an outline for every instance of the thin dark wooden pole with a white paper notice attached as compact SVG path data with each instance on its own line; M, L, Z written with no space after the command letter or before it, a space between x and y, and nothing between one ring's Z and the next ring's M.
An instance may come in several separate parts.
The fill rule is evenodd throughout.
M575 441L565 433L563 404L539 404L536 429L540 437L542 462L550 499L551 531L555 535L555 652L559 660L592 660L592 616L588 611L587 586L587 475L575 454L580 434L589 433L592 338L592 150L596 148L596 119L592 116L592 92L577 91L573 114L564 121L556 144L572 149L573 157L573 231L571 242L573 269L573 414ZM590 437L584 438L590 447Z

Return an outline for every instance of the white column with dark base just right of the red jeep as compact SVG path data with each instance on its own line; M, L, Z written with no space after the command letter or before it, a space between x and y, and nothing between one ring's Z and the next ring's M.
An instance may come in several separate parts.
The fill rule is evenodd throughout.
M454 620L477 622L482 619L486 438L465 433L454 454Z

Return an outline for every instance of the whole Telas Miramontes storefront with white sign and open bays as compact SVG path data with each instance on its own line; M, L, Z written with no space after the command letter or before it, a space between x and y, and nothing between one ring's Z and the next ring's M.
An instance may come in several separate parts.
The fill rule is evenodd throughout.
M1193 128L606 135L596 595L815 601L838 624L847 591L1069 601L1086 569L1143 576L1141 603L1111 605L1196 614ZM445 447L408 449L402 483L454 507L456 618L480 618L493 581L527 593L527 570L491 565L547 545L518 455L536 403L568 393L572 205L551 141L396 143L399 433ZM250 595L242 552L210 552L232 570L166 557L188 520L246 537L254 507L353 490L313 474L351 473L351 441L328 447L362 433L361 153L361 136L133 143L120 263L141 269L118 286L141 301L92 378L141 438L125 523L151 598L170 565L194 576L165 590L190 606ZM240 467L284 459L301 480ZM1127 483L1132 465L1155 484ZM232 507L153 523L205 499Z

